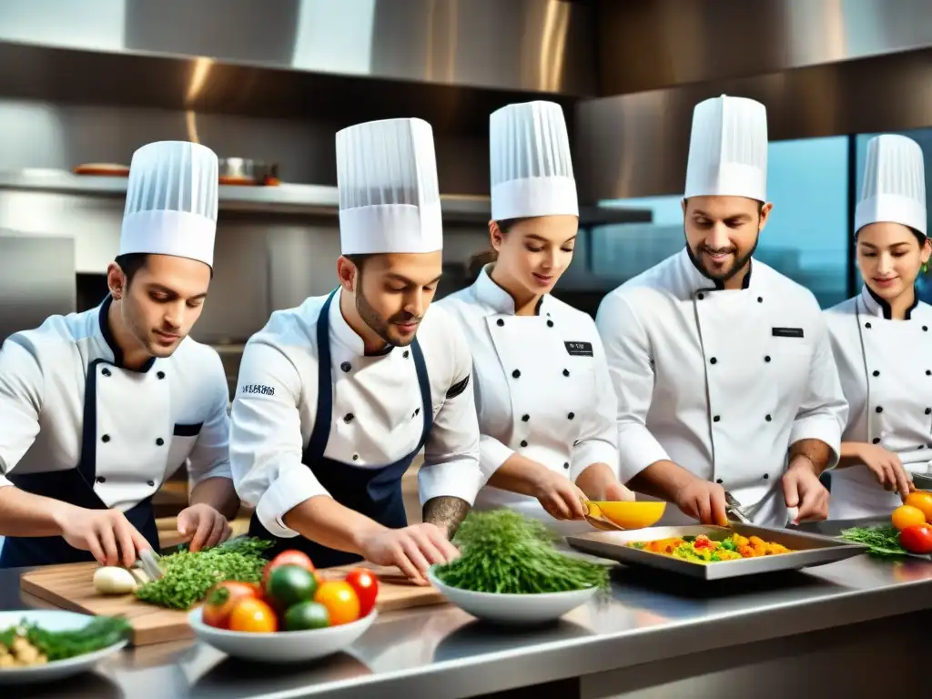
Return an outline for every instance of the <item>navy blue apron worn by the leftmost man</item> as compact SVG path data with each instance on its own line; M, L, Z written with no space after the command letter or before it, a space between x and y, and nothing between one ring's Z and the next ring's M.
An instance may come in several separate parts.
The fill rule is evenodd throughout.
M103 337L110 349L114 351L114 362L103 359L94 360L88 367L84 394L84 425L81 434L81 460L77 467L67 471L46 473L17 473L13 469L7 479L14 486L27 493L42 495L53 500L62 500L75 507L88 510L106 510L106 504L97 493L93 484L97 477L97 365L107 363L111 366L122 365L122 352L117 347L107 326L107 310L111 298L107 296L100 313ZM151 368L152 362L146 364L144 371ZM125 512L130 524L137 528L145 540L158 551L158 527L152 508L152 498L146 498ZM75 549L62 537L7 537L0 551L0 569L32 566L48 566L59 563L82 563L93 561L89 551Z

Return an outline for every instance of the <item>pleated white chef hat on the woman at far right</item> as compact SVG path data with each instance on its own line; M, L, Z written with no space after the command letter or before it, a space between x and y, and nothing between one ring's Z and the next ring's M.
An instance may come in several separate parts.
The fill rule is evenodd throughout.
M888 221L910 226L925 236L925 215L923 149L906 136L874 136L868 142L855 231Z

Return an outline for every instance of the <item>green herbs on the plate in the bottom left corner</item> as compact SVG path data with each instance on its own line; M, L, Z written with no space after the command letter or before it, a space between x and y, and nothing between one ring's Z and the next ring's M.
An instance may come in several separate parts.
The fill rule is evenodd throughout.
M21 643L17 638L25 638L35 651L52 663L109 648L129 638L131 631L130 623L122 617L97 616L74 631L48 631L24 619L18 626L0 632L0 645L13 651Z

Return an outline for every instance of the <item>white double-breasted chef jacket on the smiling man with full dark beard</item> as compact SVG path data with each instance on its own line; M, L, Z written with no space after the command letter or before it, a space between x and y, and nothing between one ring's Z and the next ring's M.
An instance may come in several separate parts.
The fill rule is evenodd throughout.
M807 289L755 260L717 288L684 249L607 295L596 316L618 395L625 481L669 459L719 483L756 524L787 524L788 447L838 462L847 418L826 323ZM664 523L687 522L668 507Z

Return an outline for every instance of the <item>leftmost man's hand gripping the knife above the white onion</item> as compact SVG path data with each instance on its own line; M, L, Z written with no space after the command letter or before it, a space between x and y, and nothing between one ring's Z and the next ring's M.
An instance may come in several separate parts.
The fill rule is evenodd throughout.
M130 568L140 551L152 548L119 510L75 507L62 517L62 538L104 566Z

